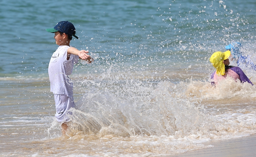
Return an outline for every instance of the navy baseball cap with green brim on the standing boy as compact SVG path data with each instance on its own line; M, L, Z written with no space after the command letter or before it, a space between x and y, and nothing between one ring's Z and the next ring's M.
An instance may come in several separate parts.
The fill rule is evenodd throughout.
M78 37L75 35L75 26L68 21L60 21L53 28L46 29L46 31L50 33L62 32L78 39Z

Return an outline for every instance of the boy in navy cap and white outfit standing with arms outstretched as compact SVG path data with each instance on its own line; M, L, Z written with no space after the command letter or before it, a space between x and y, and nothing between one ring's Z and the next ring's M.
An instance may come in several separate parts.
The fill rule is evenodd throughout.
M46 29L47 32L54 33L54 39L59 48L53 53L50 59L48 74L50 79L50 91L54 94L57 121L62 123L62 136L68 129L69 118L66 114L74 107L73 82L68 75L72 74L74 64L78 59L86 60L91 63L93 59L87 54L86 50L78 50L70 47L72 36L76 39L75 27L68 21L61 21L54 28Z

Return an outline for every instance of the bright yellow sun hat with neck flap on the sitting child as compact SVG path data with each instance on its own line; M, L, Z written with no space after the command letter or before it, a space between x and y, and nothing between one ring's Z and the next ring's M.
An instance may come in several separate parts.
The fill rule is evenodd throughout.
M214 68L216 68L217 75L225 75L225 65L223 63L224 60L228 59L230 56L230 51L226 52L215 52L210 57L210 62L213 64Z

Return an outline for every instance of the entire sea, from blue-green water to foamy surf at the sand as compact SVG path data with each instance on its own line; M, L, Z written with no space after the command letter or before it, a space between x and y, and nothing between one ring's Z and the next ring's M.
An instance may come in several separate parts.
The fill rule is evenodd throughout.
M230 42L256 63L255 1L0 4L1 156L161 156L256 133L256 88L209 80L209 57ZM79 37L71 46L96 57L70 75L75 108L66 138L47 73L58 46L45 30L64 20ZM256 72L241 68L256 84Z

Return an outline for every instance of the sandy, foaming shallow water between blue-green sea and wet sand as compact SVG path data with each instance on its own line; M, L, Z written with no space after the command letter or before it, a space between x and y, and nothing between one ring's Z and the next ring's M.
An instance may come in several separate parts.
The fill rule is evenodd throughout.
M19 81L15 88L22 92L12 95L16 100L2 92L1 155L159 156L255 134L256 89L251 85L234 81L227 87L233 95L217 97L221 87L209 82L83 81L87 85L75 84L79 110L73 110L68 139L60 138L47 81ZM246 99L240 94L244 90Z

